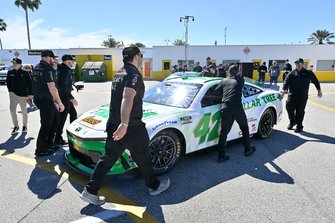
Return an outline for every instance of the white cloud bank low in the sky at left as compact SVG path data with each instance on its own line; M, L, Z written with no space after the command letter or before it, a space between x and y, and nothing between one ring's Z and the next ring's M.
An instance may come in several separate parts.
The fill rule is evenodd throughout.
M8 20L7 30L0 33L4 49L27 49L27 29L26 22L20 17ZM45 28L42 19L30 21L30 36L33 49L57 49L57 48L98 48L101 43L112 33L109 29L98 30L96 32L83 32L73 34L72 30L59 27ZM138 42L128 37L117 37L125 45ZM146 43L144 43L146 44Z

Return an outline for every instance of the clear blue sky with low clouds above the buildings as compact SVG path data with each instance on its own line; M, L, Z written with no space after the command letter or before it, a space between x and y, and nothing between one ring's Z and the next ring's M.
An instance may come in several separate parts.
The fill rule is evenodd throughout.
M306 44L317 29L335 32L335 3L325 1L71 1L42 0L29 12L33 48L101 47L108 35L125 44L166 45L184 38L179 18L192 15L189 44ZM4 48L27 48L24 11L14 1L0 0L0 33ZM170 43L171 45L171 43Z

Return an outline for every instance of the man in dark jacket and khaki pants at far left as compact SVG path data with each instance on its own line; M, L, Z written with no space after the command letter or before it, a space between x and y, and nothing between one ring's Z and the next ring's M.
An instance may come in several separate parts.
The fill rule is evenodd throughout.
M14 128L12 135L18 133L19 122L16 115L16 107L19 104L23 117L22 132L27 132L28 114L27 98L32 99L32 82L29 73L22 69L22 60L13 59L14 69L7 73L7 88L9 92L9 108Z

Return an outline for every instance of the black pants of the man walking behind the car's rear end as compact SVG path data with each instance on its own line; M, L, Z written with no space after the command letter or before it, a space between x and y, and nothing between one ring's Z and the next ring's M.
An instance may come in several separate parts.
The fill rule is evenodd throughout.
M307 99L307 96L289 96L286 101L286 111L288 114L288 118L290 119L290 124L297 124L297 128L300 129L304 127L302 125L302 122L304 121Z

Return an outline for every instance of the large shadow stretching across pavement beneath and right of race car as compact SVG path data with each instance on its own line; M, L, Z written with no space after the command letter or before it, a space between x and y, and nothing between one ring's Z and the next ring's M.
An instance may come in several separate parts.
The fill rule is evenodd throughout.
M109 182L115 184L125 196L147 206L148 211L154 213L159 222L165 222L161 205L185 202L208 189L245 174L270 183L294 184L294 179L274 160L308 141L331 144L335 142L335 138L325 135L307 132L302 135L314 139L304 139L299 135L274 130L268 139L251 141L257 147L257 151L250 157L243 156L243 146L240 142L233 142L227 150L230 160L221 164L215 162L217 151L213 151L213 148L186 155L166 174L171 180L169 190L156 197L148 198L147 189L144 188L141 179Z

